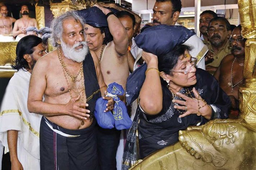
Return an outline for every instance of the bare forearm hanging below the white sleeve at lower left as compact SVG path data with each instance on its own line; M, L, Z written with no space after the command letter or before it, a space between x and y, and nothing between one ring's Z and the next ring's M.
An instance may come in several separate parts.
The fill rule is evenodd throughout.
M11 162L18 160L17 141L18 141L18 131L16 130L7 131L7 142L10 150Z

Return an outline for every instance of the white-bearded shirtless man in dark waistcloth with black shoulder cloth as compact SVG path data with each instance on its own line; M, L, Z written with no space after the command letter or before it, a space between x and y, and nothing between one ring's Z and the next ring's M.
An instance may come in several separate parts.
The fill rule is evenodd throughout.
M51 30L57 49L36 63L28 94L28 110L43 115L41 170L95 170L96 120L91 116L106 89L99 60L84 42L83 21L75 11L55 18ZM109 100L106 110L110 110L113 99L105 99Z

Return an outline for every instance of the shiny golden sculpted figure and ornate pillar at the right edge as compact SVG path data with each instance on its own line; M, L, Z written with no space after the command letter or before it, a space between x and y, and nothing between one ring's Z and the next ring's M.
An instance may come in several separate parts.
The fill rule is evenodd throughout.
M245 45L240 118L179 131L179 142L139 160L132 170L256 169L256 0L238 0Z

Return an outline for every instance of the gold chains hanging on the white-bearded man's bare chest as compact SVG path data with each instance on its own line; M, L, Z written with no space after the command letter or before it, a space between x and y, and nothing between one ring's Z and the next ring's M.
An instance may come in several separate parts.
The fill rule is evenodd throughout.
M71 90L70 90L70 85L69 85L69 81L68 81L68 78L67 78L67 76L66 76L66 73L68 74L69 72L67 72L66 70L67 70L67 68L66 68L66 65L65 65L65 63L63 62L63 58L61 57L61 54L60 54L60 50L59 50L59 48L58 48L58 50L57 50L57 53L58 53L58 58L59 58L59 61L60 61L60 64L61 64L61 68L62 68L62 71L63 71L63 74L64 74L64 77L65 77L65 80L66 80L66 82L67 82L67 84L68 84L68 91L69 91L69 96L72 98L72 94L71 94ZM82 66L83 66L83 64L82 64ZM66 73L65 73L66 72ZM79 74L81 74L81 85L82 85L82 87L83 87L83 83L84 83L84 77L83 77L83 67L82 67L82 72L81 72L81 69L79 70L79 72L78 72L78 75ZM70 76L70 74L68 74L69 76ZM77 75L77 76L78 76ZM76 76L76 77L77 77ZM71 77L71 76L70 76ZM75 77L75 78L76 78ZM73 78L73 77L71 77L72 78L72 81L74 82L74 79L75 78ZM85 89L84 89L84 91L85 91ZM83 89L82 89L82 98L80 99L80 101L83 103L84 102L84 92L83 92ZM90 115L90 118L91 118L91 115ZM82 120L82 122L81 122L81 125L83 126L84 125L84 121Z

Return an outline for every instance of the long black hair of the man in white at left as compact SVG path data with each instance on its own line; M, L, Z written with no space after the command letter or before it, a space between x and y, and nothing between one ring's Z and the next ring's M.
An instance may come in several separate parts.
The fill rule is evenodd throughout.
M12 68L18 71L22 68L28 69L28 62L23 58L23 55L32 54L34 47L40 43L42 43L42 39L35 35L27 35L20 39L16 47L15 65L12 65Z

